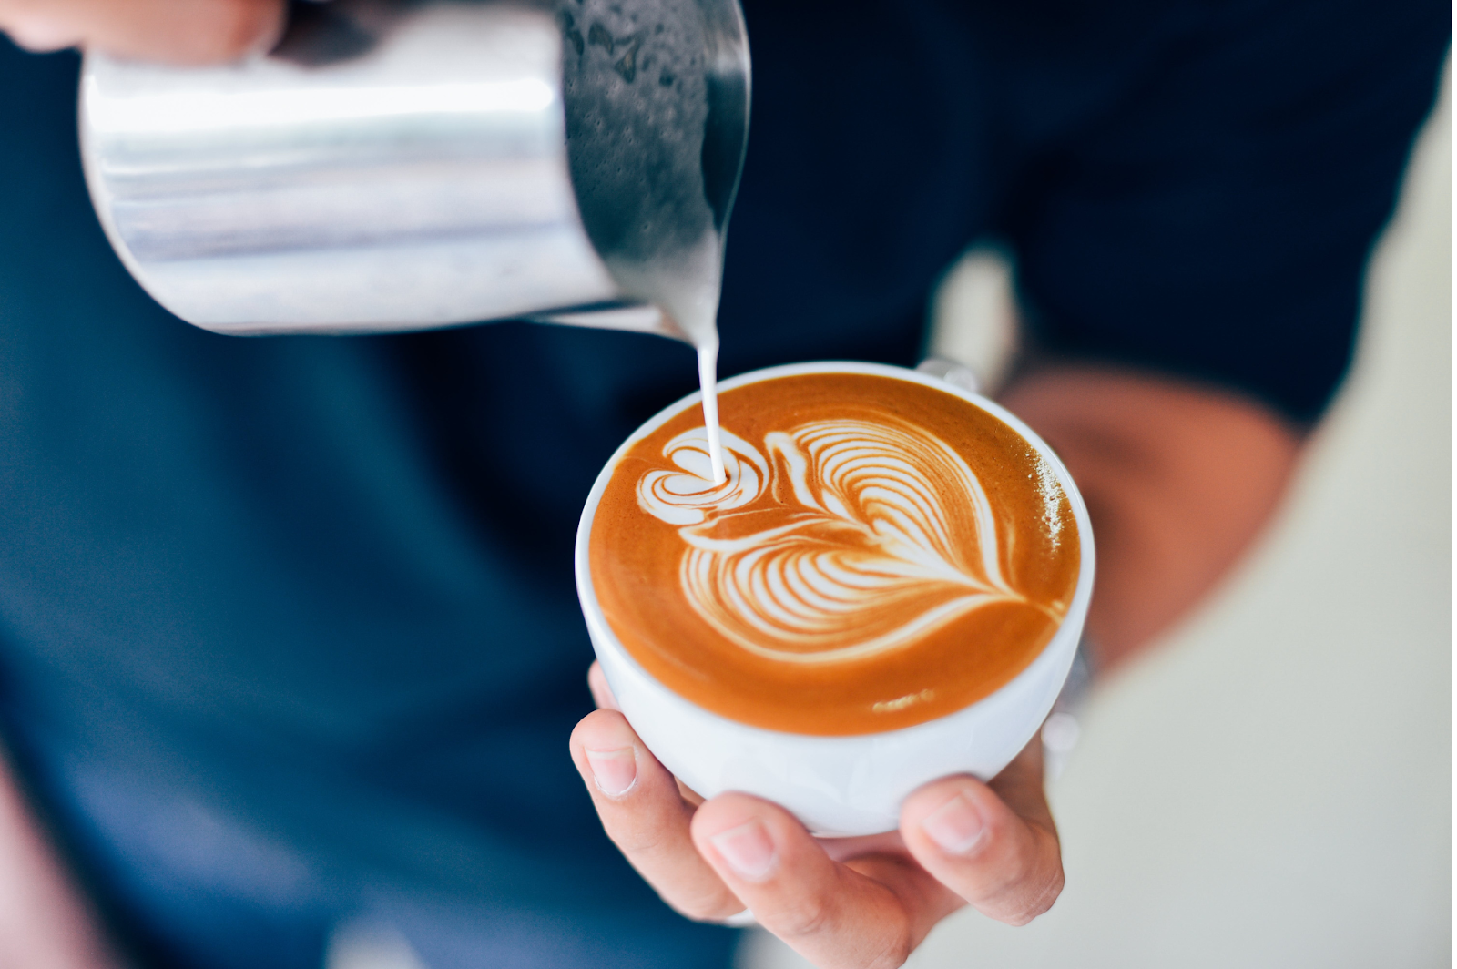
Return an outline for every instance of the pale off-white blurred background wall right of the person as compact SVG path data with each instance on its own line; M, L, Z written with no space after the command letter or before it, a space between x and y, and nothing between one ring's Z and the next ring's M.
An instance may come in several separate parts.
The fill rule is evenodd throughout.
M1275 527L1094 692L1049 787L1067 890L963 911L914 969L1450 966L1451 79L1371 262L1358 361ZM995 376L1005 268L976 256L934 350ZM756 933L742 969L801 969Z

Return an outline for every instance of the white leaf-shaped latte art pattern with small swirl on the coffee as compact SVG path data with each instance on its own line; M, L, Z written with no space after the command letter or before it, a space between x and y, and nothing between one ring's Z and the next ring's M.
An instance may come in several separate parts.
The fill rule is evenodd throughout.
M724 439L723 485L705 479L707 434L694 428L663 450L682 471L644 474L638 504L680 526L683 597L739 647L842 662L1026 602L1002 577L981 481L934 434L886 417L771 431L768 455Z

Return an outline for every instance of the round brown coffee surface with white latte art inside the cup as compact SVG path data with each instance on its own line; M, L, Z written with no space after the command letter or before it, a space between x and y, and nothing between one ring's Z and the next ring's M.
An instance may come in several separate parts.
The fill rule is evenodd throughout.
M851 373L721 395L637 442L590 539L608 624L653 676L733 720L877 733L966 707L1067 615L1068 497L1017 431L951 393Z

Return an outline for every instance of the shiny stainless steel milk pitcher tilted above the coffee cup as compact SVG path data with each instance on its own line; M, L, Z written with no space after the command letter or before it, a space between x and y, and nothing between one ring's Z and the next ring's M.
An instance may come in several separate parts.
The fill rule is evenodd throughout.
M678 221L721 245L747 118L736 0L299 3L280 47L239 64L87 55L80 99L117 252L226 334L532 318L679 335L609 268L616 223L656 220L657 249L627 258L672 258Z

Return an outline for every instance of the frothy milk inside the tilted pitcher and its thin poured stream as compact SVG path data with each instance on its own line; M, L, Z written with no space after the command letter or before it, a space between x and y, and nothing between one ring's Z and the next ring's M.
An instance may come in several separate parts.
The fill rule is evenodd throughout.
M712 38L695 0L567 0L567 146L593 246L628 296L659 306L698 350L711 468L718 434L718 294L737 168L718 170ZM742 103L742 95L739 99Z

